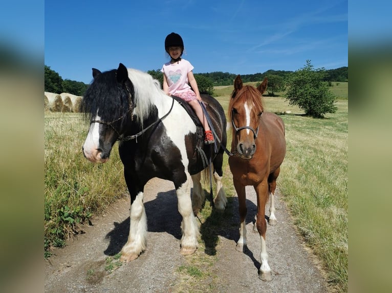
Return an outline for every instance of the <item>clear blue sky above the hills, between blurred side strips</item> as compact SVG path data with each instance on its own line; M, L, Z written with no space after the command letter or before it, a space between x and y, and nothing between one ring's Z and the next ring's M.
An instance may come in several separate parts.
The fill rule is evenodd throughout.
M348 3L328 1L45 1L45 64L90 83L92 67L147 71L167 62L164 40L184 40L194 73L255 74L348 66Z

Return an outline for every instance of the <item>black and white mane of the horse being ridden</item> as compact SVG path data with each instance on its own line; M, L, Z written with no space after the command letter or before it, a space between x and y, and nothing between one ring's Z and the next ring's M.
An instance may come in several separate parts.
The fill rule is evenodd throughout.
M86 119L92 120L99 109L104 109L99 112L102 120L111 122L119 117L125 119L128 116L126 113L129 110L129 102L133 99L133 114L142 125L151 110L155 109L154 106L158 109L163 107L163 97L166 94L161 89L159 81L137 69L127 68L127 71L132 83L128 88L130 93L119 86L116 79L117 69L102 72L94 78L82 100L82 112L85 113Z

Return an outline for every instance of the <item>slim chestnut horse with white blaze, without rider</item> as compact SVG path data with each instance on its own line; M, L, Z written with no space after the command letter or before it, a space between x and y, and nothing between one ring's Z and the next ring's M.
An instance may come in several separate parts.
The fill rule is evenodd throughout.
M276 224L274 193L276 178L280 165L286 155L285 125L274 113L265 112L262 94L267 88L268 80L264 79L257 89L243 85L238 75L234 80L234 90L229 103L229 121L232 126L231 152L229 166L233 174L233 183L239 202L239 240L237 251L246 247L247 213L245 186L252 185L257 194L257 219L255 226L261 240L261 266L259 278L272 280L271 268L268 265L266 246L267 224L265 207L268 196L271 197L269 224Z

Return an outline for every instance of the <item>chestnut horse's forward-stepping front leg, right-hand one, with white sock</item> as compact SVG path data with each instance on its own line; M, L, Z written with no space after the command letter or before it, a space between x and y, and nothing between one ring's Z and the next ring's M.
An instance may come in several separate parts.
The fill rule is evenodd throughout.
M259 279L263 281L271 281L271 268L268 264L268 254L267 254L267 242L266 242L266 232L267 232L267 222L265 219L265 208L268 199L268 182L263 180L262 183L255 185L254 189L257 196L257 231L260 235L261 242L261 252L260 259L262 265L260 266Z

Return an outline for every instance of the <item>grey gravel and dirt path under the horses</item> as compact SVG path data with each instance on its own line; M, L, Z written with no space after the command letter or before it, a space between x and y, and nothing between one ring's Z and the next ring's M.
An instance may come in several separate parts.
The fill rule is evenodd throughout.
M147 250L135 261L119 267L115 255L127 240L129 201L121 200L105 215L93 219L64 249L55 249L46 261L45 292L177 292L189 291L186 280L179 279L178 269L186 258L180 255L181 215L171 182L153 179L145 187L148 221ZM211 292L327 292L325 282L313 257L295 232L287 207L276 198L278 224L267 227L267 251L273 280L258 279L260 238L252 233L256 213L253 187L247 187L248 250L235 251L238 238L238 201L234 198L232 229L217 233L216 257L210 268L213 277L203 280L203 290ZM266 214L268 213L266 208ZM113 268L109 274L105 271ZM206 286L205 282L210 282ZM181 283L181 284L180 284Z

